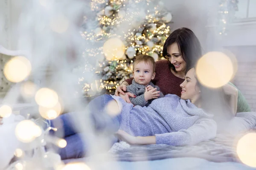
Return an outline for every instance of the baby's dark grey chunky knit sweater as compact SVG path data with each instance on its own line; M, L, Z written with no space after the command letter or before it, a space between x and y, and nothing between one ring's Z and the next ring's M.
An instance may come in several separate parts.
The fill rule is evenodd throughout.
M157 91L160 91L160 88L157 85L154 85L152 82L150 82L149 85L151 85L153 88L157 88ZM148 106L153 101L153 99L145 101L145 97L144 97L145 88L146 88L145 85L138 84L137 82L135 82L134 79L132 80L131 85L128 85L126 87L127 92L130 92L136 96L136 97L129 97L132 104L143 107L143 106ZM164 97L161 91L159 94L160 96L158 98Z

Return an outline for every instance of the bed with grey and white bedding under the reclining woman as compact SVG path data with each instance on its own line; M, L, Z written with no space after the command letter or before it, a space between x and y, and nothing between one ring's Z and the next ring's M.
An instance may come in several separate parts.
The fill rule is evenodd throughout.
M193 146L175 147L166 144L129 145L115 143L108 153L83 159L92 169L256 169L243 164L237 153L236 144L241 136L256 132L256 113L237 113L225 130L211 140ZM106 159L108 161L106 161ZM99 160L104 160L99 164ZM256 161L256 160L255 160Z

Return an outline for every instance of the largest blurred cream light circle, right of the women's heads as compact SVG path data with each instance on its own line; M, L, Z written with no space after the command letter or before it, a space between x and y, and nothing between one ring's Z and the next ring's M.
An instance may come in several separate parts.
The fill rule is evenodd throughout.
M209 52L198 60L196 74L199 82L209 88L219 88L233 76L233 63L221 52Z

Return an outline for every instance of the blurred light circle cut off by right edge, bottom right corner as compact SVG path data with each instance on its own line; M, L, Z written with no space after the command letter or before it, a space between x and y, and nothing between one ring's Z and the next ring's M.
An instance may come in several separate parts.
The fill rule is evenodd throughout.
M250 167L256 167L256 133L247 133L237 144L239 159Z

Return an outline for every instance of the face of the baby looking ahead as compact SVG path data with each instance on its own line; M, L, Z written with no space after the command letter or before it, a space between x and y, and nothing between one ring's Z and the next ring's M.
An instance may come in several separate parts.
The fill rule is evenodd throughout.
M148 85L151 79L154 79L154 76L152 65L145 62L139 62L134 65L133 77L138 84Z

